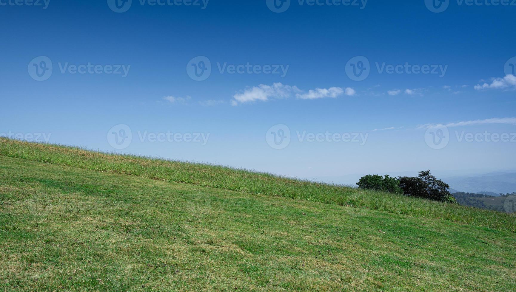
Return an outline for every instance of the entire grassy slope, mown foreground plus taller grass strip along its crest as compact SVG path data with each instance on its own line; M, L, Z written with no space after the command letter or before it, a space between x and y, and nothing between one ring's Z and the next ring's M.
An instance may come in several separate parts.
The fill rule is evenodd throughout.
M516 217L0 139L2 290L516 290Z

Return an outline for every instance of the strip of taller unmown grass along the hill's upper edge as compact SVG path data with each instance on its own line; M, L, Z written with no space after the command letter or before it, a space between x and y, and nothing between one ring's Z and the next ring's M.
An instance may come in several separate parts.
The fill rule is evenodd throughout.
M58 145L25 143L0 138L0 156L34 160L108 173L125 174L313 202L333 203L361 209L385 211L415 217L443 218L516 232L513 215L444 204L402 195L313 183L265 173L254 173L215 165L120 156Z

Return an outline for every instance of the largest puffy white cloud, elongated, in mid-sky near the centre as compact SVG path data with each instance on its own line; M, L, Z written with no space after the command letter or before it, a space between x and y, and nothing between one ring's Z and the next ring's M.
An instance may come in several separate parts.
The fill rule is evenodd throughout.
M352 96L356 94L356 91L350 87L342 89L340 87L316 88L315 90L309 90L304 92L296 86L285 85L282 83L273 83L272 86L266 84L260 84L258 86L248 88L243 92L236 93L233 95L231 101L232 106L238 104L244 104L246 102L253 101L267 101L271 99L284 99L295 96L299 99L317 99L317 98L336 98L340 95Z

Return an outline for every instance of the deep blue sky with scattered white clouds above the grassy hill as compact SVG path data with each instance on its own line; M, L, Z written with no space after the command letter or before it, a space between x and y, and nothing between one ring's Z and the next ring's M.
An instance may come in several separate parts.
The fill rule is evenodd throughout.
M265 0L133 0L115 12L109 1L28 3L0 0L0 133L303 178L516 168L516 6L453 0L435 13L424 0L293 0L278 13ZM41 60L52 73L37 81ZM358 81L352 64L364 60ZM196 81L200 61L211 74ZM117 125L132 133L122 149L111 145ZM281 149L271 132L279 139L285 128L275 125L290 132ZM167 132L181 139L148 136ZM309 142L311 133L331 138Z

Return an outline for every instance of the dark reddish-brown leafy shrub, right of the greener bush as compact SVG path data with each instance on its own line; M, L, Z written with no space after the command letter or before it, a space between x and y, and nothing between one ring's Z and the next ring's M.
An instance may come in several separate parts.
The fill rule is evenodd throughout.
M430 174L430 170L420 171L417 177L401 177L399 186L405 195L434 201L457 203L450 194L450 186Z

